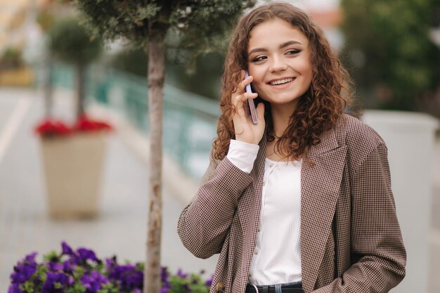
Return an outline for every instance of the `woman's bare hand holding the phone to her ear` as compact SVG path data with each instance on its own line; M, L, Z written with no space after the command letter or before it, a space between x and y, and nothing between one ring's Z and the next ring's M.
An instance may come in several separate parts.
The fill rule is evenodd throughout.
M245 78L245 71L242 71L241 78ZM258 144L264 134L264 103L257 106L258 124L252 123L252 117L247 104L248 98L257 98L257 93L246 93L245 87L252 82L253 77L247 77L237 86L237 90L232 94L232 104L235 106L233 124L235 129L235 139L244 143Z

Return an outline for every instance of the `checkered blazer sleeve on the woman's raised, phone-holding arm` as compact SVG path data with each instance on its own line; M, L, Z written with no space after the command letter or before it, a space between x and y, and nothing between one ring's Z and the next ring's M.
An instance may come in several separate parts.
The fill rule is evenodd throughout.
M221 252L238 199L252 177L235 167L227 157L211 155L197 195L181 212L177 232L183 245L195 256L207 259Z

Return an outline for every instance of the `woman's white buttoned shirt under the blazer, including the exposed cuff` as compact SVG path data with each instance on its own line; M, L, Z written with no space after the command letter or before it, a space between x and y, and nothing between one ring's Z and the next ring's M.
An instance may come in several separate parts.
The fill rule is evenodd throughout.
M248 174L259 145L231 140L228 159ZM301 161L266 158L261 213L249 282L255 285L300 282Z

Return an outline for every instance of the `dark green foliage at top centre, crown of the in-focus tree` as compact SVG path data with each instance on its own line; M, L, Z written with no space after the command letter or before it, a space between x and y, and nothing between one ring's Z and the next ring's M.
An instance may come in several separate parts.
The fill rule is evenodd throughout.
M82 12L86 27L105 41L122 38L138 47L145 46L152 34L178 31L172 46L188 50L193 56L224 53L231 27L255 0L202 1L92 1L72 0ZM170 44L171 44L170 43ZM195 58L188 58L194 60Z

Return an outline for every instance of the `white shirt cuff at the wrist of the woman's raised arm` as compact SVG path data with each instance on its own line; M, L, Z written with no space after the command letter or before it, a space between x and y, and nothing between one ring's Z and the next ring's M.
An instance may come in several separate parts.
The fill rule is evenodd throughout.
M257 159L259 148L259 145L254 145L253 143L243 143L242 141L231 139L226 157L235 167L250 174L254 167L255 159Z

